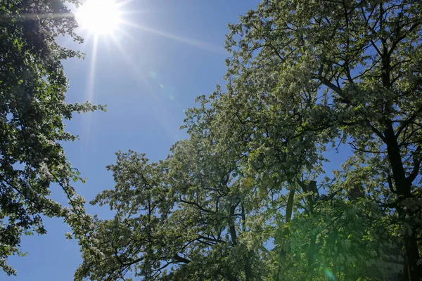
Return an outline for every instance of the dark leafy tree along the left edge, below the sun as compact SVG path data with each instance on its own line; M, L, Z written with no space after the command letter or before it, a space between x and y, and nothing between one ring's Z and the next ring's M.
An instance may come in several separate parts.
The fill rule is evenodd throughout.
M75 235L89 223L84 200L70 185L82 178L59 143L77 138L65 131L63 119L103 109L65 102L68 81L61 60L81 53L58 45L56 37L82 43L75 27L62 0L0 4L0 268L8 275L15 275L8 256L23 254L22 235L46 233L41 216L65 218ZM63 188L70 208L51 199L52 184Z

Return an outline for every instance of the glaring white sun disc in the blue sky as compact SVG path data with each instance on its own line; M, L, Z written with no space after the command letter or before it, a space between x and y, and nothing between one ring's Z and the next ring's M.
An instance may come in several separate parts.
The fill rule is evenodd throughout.
M76 17L82 29L89 33L113 34L122 22L119 8L114 0L87 0L79 7Z

